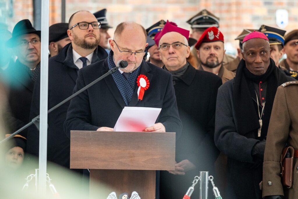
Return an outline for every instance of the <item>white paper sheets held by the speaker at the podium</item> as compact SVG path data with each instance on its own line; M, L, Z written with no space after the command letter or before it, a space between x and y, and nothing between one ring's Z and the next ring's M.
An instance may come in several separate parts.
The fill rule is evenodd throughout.
M124 107L114 131L140 132L155 124L162 109L149 107Z

